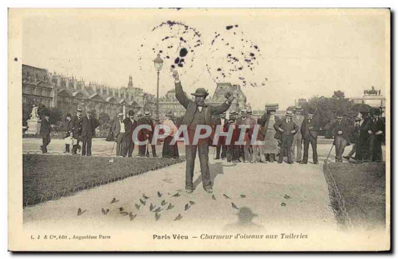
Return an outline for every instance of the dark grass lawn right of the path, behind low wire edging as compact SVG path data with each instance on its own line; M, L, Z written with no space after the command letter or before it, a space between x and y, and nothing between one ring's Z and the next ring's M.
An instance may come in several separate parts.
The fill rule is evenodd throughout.
M329 163L353 226L373 228L386 222L386 164Z

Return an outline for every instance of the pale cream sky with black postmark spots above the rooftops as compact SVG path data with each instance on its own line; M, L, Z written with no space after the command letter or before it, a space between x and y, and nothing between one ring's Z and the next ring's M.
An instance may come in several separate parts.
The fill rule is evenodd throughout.
M127 86L132 75L134 86L156 94L153 59L161 51L160 96L174 88L176 69L188 93L204 87L212 94L215 82L230 82L241 85L253 109L266 103L286 109L299 98L337 90L360 97L374 86L386 94L386 13L32 9L23 19L22 62L112 87Z

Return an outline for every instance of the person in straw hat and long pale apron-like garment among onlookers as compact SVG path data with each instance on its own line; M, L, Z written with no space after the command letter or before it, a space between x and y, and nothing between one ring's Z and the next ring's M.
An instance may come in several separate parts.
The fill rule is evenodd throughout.
M265 159L271 163L275 161L275 156L278 153L278 140L280 138L280 134L277 135L274 129L274 124L279 121L279 118L275 116L278 107L278 104L266 104L264 115L257 120L264 136Z

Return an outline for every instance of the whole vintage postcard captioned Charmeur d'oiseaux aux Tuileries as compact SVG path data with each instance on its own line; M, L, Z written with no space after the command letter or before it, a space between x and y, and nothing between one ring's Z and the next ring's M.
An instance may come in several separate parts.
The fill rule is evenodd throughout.
M390 9L8 19L10 251L390 250Z

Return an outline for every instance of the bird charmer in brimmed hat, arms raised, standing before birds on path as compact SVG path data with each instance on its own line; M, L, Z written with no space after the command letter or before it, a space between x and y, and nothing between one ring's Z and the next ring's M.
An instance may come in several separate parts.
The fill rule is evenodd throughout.
M195 96L195 101L192 101L184 94L177 70L174 70L173 77L175 79L176 98L187 109L181 123L181 125L187 126L189 138L189 143L186 145L187 166L185 189L187 193L192 193L194 189L194 166L198 149L203 188L206 192L211 193L213 189L208 166L209 138L201 138L198 143L193 143L193 139L197 126L206 125L211 128L211 115L221 114L228 110L234 97L230 93L227 93L225 96L226 101L222 105L207 105L204 103L204 99L208 95L207 91L204 88L198 88L192 94Z

